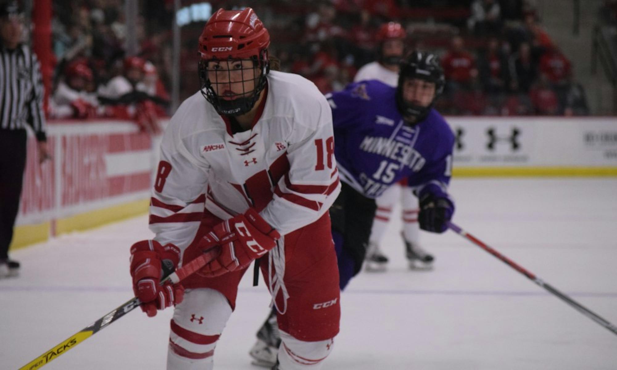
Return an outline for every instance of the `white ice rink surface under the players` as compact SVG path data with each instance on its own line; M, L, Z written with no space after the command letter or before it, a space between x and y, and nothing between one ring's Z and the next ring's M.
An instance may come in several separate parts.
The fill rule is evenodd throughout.
M617 179L458 179L453 221L617 324ZM433 271L410 271L396 212L386 273L341 296L341 332L323 369L617 369L617 335L452 231L421 234ZM18 369L131 297L128 250L147 217L12 253L0 280L0 368ZM215 369L254 369L247 352L270 298L251 274L215 351ZM44 369L165 369L172 310L139 310Z

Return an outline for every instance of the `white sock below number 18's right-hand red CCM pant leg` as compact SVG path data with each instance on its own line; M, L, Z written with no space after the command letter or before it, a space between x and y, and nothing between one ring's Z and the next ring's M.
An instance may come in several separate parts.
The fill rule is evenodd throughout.
M334 339L304 342L283 331L281 339L283 342L278 351L280 370L319 370L334 346Z

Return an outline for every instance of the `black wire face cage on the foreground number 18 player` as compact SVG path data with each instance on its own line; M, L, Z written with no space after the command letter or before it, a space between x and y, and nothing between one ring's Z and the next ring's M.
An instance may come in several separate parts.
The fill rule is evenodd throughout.
M252 67L244 68L238 70L226 70L228 73L226 81L220 82L221 84L228 84L231 81L231 72L240 71L242 74L241 81L234 81L234 83L242 84L242 92L238 94L230 94L224 97L218 96L213 88L213 84L218 84L218 80L210 81L208 77L208 64L209 62L228 62L228 66L231 66L233 62L242 62L243 60L251 60ZM255 75L255 67L259 68L259 75ZM205 100L209 101L210 104L213 105L214 109L217 110L220 115L242 115L244 113L249 112L257 99L259 99L259 93L265 88L267 79L266 76L268 72L270 72L270 64L268 63L268 54L267 50L263 50L260 52L259 57L254 55L251 58L247 59L233 59L228 58L226 60L219 59L201 59L199 60L199 65L197 66L197 71L199 73L199 80L201 82L201 94L205 97ZM214 72L215 78L218 79L218 73ZM246 81L253 80L255 83L255 88L252 91L244 91L244 83Z

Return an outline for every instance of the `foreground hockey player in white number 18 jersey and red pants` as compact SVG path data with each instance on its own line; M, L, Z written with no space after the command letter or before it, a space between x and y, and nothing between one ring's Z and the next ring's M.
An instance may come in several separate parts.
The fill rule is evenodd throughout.
M278 311L275 369L320 369L339 331L331 110L310 81L269 71L269 44L251 8L213 14L199 39L201 92L164 134L156 236L131 247L131 276L149 316L175 305L167 369L213 368L238 283L257 258ZM162 260L181 266L212 240L224 241L218 257L182 286L156 284Z

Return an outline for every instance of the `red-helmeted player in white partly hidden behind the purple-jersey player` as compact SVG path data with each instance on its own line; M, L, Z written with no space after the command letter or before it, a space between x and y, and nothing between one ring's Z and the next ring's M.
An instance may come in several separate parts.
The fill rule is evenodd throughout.
M381 25L376 36L379 41L378 60L360 68L354 77L354 81L379 80L396 87L399 81L400 60L405 53L406 36L400 23L388 22ZM402 191L405 186L407 186L407 181L404 179L389 187L376 199L377 212L375 220L373 220L369 248L366 253L366 269L368 271L384 271L386 269L388 258L381 251L380 244L392 216L394 205L399 199L402 205L402 237L405 244L405 256L409 261L410 268L430 268L432 266L433 256L426 253L419 243L418 198L412 192Z

